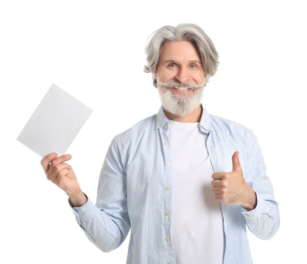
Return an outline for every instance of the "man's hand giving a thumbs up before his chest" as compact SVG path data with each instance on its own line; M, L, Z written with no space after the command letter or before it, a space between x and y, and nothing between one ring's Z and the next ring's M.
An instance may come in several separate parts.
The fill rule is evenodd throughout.
M250 211L256 207L256 193L246 183L239 161L239 151L232 156L231 172L212 174L212 192L214 199L229 205L240 205Z

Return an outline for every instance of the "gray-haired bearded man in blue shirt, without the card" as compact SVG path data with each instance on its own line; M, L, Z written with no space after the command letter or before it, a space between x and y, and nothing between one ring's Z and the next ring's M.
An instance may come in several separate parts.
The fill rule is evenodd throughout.
M71 157L43 158L47 178L69 195L78 224L103 252L131 229L127 264L252 263L246 226L272 238L278 203L253 131L201 103L218 65L211 39L193 24L165 26L145 51L162 105L112 140L96 206L65 163Z

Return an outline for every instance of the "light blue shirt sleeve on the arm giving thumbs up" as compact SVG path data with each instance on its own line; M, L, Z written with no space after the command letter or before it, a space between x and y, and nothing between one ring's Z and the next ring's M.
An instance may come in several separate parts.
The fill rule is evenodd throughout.
M247 211L242 208L249 230L261 239L271 239L279 229L278 202L274 198L272 183L267 175L264 157L258 140L251 129L248 130L247 168L244 171L249 179L247 184L254 190L257 197L256 207Z

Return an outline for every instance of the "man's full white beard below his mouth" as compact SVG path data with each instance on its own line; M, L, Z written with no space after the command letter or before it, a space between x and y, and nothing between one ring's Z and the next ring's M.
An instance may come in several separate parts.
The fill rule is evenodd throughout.
M190 94L180 94L171 89L158 85L158 92L162 106L175 116L185 116L200 106L203 98L204 86L193 89Z

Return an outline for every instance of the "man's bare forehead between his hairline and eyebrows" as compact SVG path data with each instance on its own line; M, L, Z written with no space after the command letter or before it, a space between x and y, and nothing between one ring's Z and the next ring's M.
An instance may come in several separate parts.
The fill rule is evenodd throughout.
M189 41L169 41L162 46L160 60L199 60L200 57L197 49Z

